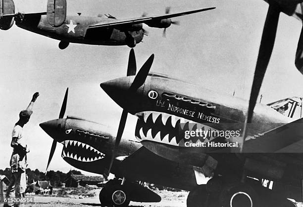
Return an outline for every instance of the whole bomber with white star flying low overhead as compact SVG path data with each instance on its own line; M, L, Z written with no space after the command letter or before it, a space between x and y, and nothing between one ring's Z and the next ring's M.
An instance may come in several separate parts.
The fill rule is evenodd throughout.
M117 19L114 16L67 16L66 0L48 0L47 12L15 13L13 0L0 1L0 29L8 30L13 23L25 30L52 39L59 40L59 48L65 49L70 42L96 45L128 45L135 47L143 40L146 31L143 23L149 27L166 28L178 24L171 18L187 14L202 12L215 7L169 14L169 7L165 14L142 17Z

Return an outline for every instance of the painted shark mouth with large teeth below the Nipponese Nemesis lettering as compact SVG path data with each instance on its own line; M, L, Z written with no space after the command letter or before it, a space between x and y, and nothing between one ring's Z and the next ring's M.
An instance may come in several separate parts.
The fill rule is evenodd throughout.
M146 111L137 113L139 118L135 136L139 141L151 140L163 144L174 146L185 146L185 142L200 143L208 142L216 137L207 137L205 139L190 137L185 139L185 131L195 131L197 128L202 130L215 130L212 127L193 122L181 117L162 112Z

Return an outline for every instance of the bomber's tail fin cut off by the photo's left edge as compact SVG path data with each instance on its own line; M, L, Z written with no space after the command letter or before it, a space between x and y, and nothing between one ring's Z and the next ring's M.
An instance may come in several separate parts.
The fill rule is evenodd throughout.
M0 29L8 30L14 23L15 4L13 0L0 0Z

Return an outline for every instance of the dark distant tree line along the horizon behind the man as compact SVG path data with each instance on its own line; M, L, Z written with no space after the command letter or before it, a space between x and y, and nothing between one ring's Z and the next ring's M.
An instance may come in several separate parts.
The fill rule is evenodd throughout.
M82 175L80 171L71 170L68 173L73 173L76 175ZM50 170L45 174L45 172L39 171L39 169L31 170L30 168L26 169L26 175L28 176L28 183L32 183L37 180L48 180L50 181L50 185L53 187L61 187L62 183L66 179L68 173L64 173L61 171L53 171ZM0 169L0 175L5 175L8 179L11 179L12 173L10 168Z

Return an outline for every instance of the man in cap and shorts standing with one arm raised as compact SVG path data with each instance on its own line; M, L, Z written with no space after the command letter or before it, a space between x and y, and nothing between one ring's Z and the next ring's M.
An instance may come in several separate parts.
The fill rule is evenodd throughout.
M27 145L23 138L23 126L28 123L33 111L34 102L36 101L39 93L36 92L33 95L33 98L26 108L19 113L19 121L14 125L12 131L12 139L10 146L13 148L13 153L10 158L10 168L12 172L12 178L10 183L6 189L6 198L9 198L9 193L15 185L15 197L20 198L20 178L21 174L25 172L25 165L26 165L26 153L29 152L27 149ZM19 207L20 203L15 203L14 207ZM4 203L4 207L7 207L8 204Z

